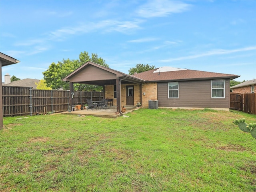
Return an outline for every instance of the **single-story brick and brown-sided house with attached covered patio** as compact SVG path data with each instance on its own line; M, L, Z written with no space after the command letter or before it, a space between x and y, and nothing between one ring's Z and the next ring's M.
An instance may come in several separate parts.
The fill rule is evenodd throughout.
M70 104L74 83L103 86L104 98L118 106L147 108L158 100L159 108L214 108L229 110L230 80L240 76L172 67L160 67L128 75L94 62L86 62L63 78L70 82Z

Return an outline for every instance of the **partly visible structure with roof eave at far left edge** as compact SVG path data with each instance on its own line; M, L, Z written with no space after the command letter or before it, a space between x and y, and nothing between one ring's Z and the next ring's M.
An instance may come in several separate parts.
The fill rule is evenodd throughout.
M0 52L0 79L2 82L2 66L19 63L20 61ZM2 83L0 83L0 130L3 129L3 94Z

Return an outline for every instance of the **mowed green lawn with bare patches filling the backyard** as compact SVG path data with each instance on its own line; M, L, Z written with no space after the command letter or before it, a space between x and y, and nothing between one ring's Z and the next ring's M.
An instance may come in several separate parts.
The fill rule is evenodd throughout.
M139 109L129 118L4 118L0 191L253 192L256 115Z

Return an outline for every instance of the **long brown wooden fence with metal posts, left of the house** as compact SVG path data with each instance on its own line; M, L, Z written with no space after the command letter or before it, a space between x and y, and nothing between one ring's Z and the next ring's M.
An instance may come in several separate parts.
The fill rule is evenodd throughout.
M30 87L2 86L3 116L34 115L68 110L69 91L35 90ZM103 92L74 91L74 104L87 99L102 100Z

